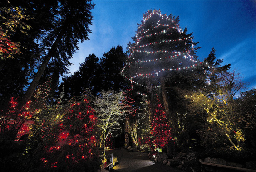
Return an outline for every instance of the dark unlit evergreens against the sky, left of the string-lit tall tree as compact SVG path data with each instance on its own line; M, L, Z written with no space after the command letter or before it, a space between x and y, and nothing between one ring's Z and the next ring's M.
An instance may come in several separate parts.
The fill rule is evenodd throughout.
M128 81L121 75L120 71L124 66L126 55L123 47L118 45L111 48L102 58L90 54L85 61L80 63L79 71L71 76L63 77L63 83L59 86L59 93L64 86L64 98L70 99L80 96L85 89L89 88L96 96L101 91L128 88Z

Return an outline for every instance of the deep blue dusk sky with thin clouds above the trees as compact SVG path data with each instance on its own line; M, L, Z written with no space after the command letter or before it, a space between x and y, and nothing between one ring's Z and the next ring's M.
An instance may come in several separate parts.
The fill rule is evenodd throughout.
M256 6L255 1L241 0L93 0L94 20L90 26L89 41L79 43L79 50L70 60L71 73L79 70L79 63L94 53L101 58L112 47L126 46L135 35L137 23L148 9L161 10L162 14L179 16L181 28L187 27L202 61L211 49L222 63L231 64L248 82L248 89L256 85Z

